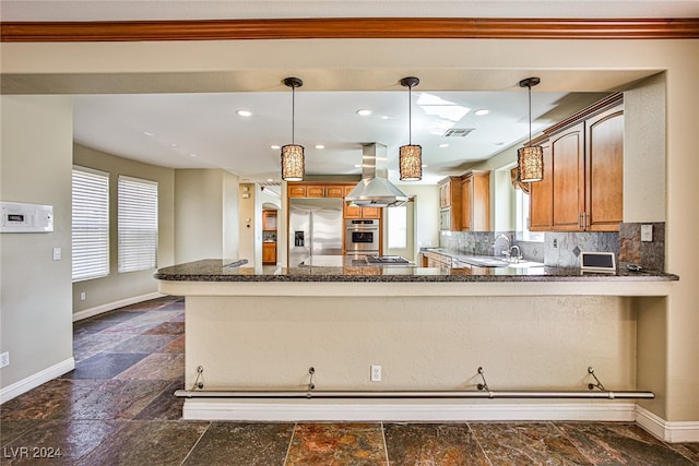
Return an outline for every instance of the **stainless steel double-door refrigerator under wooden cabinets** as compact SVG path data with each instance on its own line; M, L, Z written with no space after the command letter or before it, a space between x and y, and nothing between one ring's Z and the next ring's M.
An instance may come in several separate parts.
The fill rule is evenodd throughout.
M342 199L289 200L289 266L312 256L342 255Z

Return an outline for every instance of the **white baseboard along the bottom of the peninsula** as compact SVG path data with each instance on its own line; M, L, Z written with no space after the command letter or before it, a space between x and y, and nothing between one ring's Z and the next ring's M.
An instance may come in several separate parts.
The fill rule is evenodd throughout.
M183 419L245 421L517 421L636 418L635 403L614 404L329 404L185 401Z

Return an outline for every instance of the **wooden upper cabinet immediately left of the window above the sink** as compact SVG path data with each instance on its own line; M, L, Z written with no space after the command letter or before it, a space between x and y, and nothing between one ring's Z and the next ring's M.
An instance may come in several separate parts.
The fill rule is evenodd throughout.
M490 230L489 171L471 171L461 178L461 229Z

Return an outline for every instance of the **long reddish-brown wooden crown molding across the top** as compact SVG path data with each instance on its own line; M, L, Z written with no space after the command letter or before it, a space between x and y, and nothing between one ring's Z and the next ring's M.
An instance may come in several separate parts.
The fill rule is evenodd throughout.
M329 17L0 23L3 43L310 38L695 39L699 38L699 19Z

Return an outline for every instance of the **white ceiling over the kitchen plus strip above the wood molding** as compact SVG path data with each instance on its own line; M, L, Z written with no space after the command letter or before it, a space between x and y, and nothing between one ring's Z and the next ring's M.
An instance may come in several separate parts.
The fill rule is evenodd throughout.
M629 10L632 12L629 14ZM114 21L245 17L696 17L699 0L490 0L484 1L40 1L3 0L3 21ZM300 76L305 77L305 76ZM418 75L419 77L419 75ZM526 76L519 76L522 79ZM625 77L627 80L625 80ZM612 89L640 76L614 76ZM94 79L94 76L93 76ZM509 79L509 77L508 77ZM430 80L434 82L434 80ZM424 150L425 177L434 183L486 159L528 136L526 89L511 79L503 92L455 92L455 87L412 93L412 142ZM545 86L532 97L533 131L601 97L568 94ZM554 82L554 80L549 80ZM280 152L271 145L292 141L291 89L275 92L198 92L177 94L76 95L75 141L115 155L174 167L220 167L244 181L279 181ZM309 88L310 87L310 88ZM482 88L482 87L471 87ZM490 87L496 88L496 87ZM502 87L499 87L500 89ZM566 89L568 91L568 89ZM90 92L90 91L87 91ZM370 109L359 117L356 110ZM242 118L236 110L252 111ZM486 116L475 110L487 109ZM407 89L296 92L295 142L306 147L307 174L358 175L362 144L379 142L389 150L389 167L398 147L408 142ZM445 138L449 129L473 129L465 138ZM149 133L150 135L146 135ZM439 147L448 143L448 147ZM324 148L315 148L324 144ZM194 155L192 155L194 154ZM392 162L393 159L393 162ZM395 181L396 170L389 170Z

